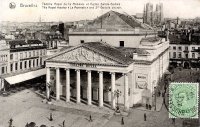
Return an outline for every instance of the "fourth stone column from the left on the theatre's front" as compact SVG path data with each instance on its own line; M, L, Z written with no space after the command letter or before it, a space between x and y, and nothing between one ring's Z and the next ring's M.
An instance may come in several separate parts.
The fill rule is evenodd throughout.
M80 70L76 70L76 103L80 103L80 91L81 83L80 83Z

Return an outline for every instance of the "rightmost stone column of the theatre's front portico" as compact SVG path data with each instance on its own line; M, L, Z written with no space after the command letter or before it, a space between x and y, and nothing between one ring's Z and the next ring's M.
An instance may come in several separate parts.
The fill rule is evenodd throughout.
M124 74L124 107L125 110L129 109L128 103L128 74Z

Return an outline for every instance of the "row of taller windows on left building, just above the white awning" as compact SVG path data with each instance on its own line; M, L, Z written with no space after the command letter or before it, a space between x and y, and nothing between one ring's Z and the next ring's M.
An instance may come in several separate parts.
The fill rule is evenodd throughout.
M19 64L19 65L18 65ZM10 71L17 71L17 70L22 70L22 69L27 69L31 67L38 67L41 66L42 63L42 58L39 59L33 59L33 60L26 60L26 61L21 61L21 62L16 62L16 63L11 63L10 64Z

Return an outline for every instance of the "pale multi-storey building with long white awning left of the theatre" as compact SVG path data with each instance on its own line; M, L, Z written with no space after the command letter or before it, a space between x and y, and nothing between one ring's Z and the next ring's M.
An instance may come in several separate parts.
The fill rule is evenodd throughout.
M1 55L1 89L45 75L46 45L39 40L6 40L7 50ZM3 52L1 52L3 53Z

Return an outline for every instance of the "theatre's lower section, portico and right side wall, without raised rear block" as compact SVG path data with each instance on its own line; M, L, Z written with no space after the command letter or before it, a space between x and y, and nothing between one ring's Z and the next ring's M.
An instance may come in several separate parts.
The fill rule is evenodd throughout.
M150 40L149 40L150 39ZM169 42L142 39L138 48L115 47L106 42L84 42L63 49L46 60L47 91L64 97L125 109L137 103L154 104L152 96L168 67ZM116 98L116 91L121 96Z

